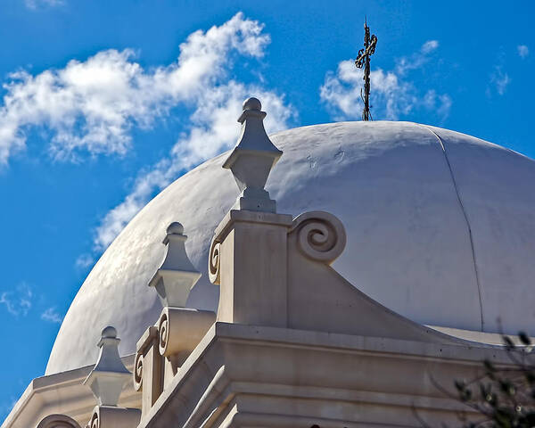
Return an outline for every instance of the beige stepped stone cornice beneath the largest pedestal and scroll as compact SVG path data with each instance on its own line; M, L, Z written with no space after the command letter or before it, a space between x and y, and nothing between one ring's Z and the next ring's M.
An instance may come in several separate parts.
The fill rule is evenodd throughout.
M141 427L419 426L457 421L433 382L470 378L503 350L216 323Z

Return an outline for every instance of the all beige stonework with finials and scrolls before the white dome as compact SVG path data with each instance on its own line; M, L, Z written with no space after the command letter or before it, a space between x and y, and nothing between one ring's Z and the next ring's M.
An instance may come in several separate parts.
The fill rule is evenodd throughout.
M34 380L3 428L418 427L416 414L454 425L465 408L437 384L473 378L483 359L510 364L496 335L418 324L340 275L332 265L348 237L332 213L276 212L264 185L282 152L265 115L258 100L243 103L223 164L241 193L210 245L217 314L187 307L201 273L173 222L148 282L163 309L136 355L119 358L106 327L95 366Z

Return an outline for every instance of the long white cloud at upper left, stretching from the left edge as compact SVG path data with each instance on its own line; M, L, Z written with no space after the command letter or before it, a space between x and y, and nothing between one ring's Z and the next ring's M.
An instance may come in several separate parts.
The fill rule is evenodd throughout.
M196 108L206 87L225 77L231 53L258 58L268 42L262 25L240 12L191 34L169 66L145 70L132 50L111 49L36 76L14 72L0 104L0 163L25 148L32 128L50 135L50 152L58 159L125 154L133 127L152 128L180 103Z

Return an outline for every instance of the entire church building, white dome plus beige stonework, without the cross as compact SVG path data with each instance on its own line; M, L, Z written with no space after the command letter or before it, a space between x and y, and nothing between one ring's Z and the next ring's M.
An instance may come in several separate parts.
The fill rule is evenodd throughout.
M243 103L235 149L111 244L3 427L456 424L437 384L510 363L535 162L404 122L270 139L265 116Z

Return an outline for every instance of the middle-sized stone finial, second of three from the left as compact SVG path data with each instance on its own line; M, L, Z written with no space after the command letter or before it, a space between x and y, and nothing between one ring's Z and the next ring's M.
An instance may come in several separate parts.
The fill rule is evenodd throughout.
M156 288L163 307L185 307L185 302L193 285L201 277L185 252L184 226L171 223L163 243L167 252L161 267L152 276L149 286Z

